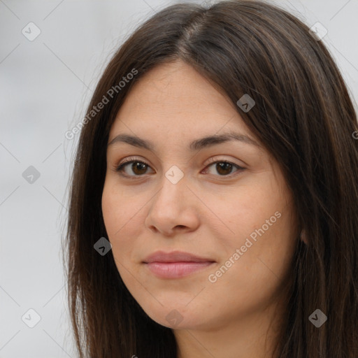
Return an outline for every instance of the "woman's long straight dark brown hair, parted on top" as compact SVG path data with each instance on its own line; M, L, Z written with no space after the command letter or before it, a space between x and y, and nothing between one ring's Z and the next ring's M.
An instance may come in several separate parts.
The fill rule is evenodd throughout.
M117 50L96 86L81 124L64 253L78 355L177 355L173 331L134 300L112 251L102 256L94 250L99 238L108 238L101 194L115 115L141 76L175 59L208 78L235 106L243 94L255 100L247 113L236 108L292 191L308 245L298 241L292 262L277 357L357 358L357 114L334 60L308 26L278 6L247 0L164 8ZM124 76L128 80L119 85ZM316 309L328 317L320 328L309 320Z

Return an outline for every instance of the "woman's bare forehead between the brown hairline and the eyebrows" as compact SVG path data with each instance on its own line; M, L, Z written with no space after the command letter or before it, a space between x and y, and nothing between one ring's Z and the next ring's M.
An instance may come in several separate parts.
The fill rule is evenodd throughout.
M250 131L227 96L181 61L161 64L145 73L127 94L111 136L131 130L217 133L220 129Z

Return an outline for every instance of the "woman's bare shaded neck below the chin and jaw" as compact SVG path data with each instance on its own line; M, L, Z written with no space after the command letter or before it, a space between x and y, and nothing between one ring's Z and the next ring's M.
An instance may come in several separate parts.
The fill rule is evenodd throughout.
M224 317L225 320L225 317ZM278 343L278 305L245 317L226 317L226 322L176 329L178 358L272 358Z

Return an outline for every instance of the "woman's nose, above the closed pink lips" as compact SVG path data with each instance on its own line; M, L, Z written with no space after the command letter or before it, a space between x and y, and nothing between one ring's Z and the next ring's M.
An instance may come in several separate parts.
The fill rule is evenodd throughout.
M162 187L150 201L145 226L164 236L194 231L199 227L199 202L185 176L176 184L164 176Z

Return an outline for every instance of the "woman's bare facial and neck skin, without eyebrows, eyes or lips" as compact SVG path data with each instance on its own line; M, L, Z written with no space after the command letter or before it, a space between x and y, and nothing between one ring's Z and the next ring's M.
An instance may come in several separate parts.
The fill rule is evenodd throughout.
M262 145L242 141L189 150L190 142L229 129L258 143L239 111L191 66L161 64L134 85L108 138L130 134L155 145L154 151L108 146L102 210L124 284L152 320L173 329L179 358L271 357L278 338L297 240L292 196L278 163ZM148 164L141 170L127 164L124 173L134 179L115 171L128 157ZM232 166L222 175L209 159L244 170ZM173 165L184 175L176 184L165 176ZM264 234L210 282L277 212ZM157 278L143 264L157 250L215 263L184 278ZM181 322L167 320L169 313Z

